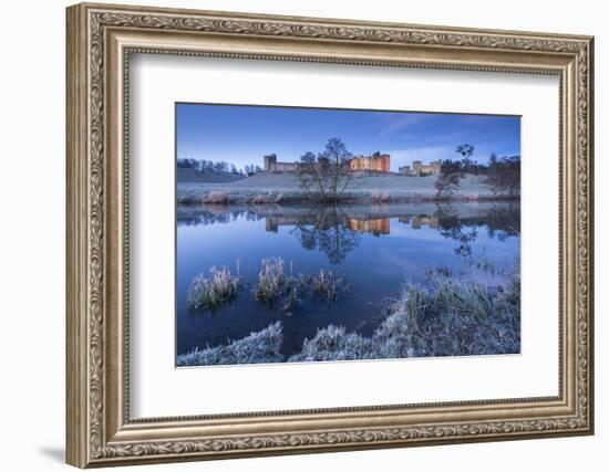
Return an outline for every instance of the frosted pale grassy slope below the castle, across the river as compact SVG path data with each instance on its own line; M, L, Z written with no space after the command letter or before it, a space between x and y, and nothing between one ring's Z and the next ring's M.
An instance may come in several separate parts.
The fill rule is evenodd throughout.
M436 177L386 176L353 177L341 202L424 202L424 201L496 201L519 199L494 193L483 177L468 175L450 196L437 198ZM178 204L298 204L316 201L320 195L306 191L295 174L262 172L234 182L177 182Z

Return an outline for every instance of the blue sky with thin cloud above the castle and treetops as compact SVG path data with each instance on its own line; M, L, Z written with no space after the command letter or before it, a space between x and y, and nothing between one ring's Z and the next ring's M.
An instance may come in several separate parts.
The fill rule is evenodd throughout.
M262 166L262 156L295 161L339 137L354 155L391 155L391 169L413 160L455 159L468 143L474 159L520 154L518 116L177 104L177 157Z

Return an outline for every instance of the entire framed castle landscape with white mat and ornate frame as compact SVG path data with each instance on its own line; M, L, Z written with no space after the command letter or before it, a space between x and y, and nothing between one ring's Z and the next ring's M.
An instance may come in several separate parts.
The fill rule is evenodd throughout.
M68 462L591 434L592 38L68 9Z

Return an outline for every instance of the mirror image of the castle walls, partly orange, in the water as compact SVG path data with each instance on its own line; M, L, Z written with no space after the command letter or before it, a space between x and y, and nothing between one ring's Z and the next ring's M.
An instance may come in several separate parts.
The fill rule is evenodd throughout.
M307 221L310 219L310 221ZM368 233L374 235L390 234L391 224L390 218L345 218L345 227L350 230L357 231L359 233ZM423 227L438 229L440 228L440 218L433 216L405 216L398 219L401 223L410 224L413 230L419 230ZM330 222L328 222L330 225ZM320 228L320 221L311 217L266 217L265 228L269 232L277 232L279 227L282 225L297 225L297 224L311 224ZM336 223L334 223L336 224ZM320 229L323 228L321 224Z

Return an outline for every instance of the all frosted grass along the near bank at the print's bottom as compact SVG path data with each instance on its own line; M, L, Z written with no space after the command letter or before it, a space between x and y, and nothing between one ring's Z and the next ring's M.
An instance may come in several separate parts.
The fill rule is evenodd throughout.
M406 283L386 305L385 318L370 337L329 325L302 349L281 357L281 325L275 323L227 346L178 356L178 365L268 361L355 360L520 352L520 273L516 265L503 286L429 274ZM240 344L239 344L240 343ZM260 346L257 347L256 344ZM278 344L277 344L278 343ZM236 348L238 346L238 348ZM235 353L240 353L236 355ZM246 354L242 354L246 353ZM269 360L272 359L272 360Z

